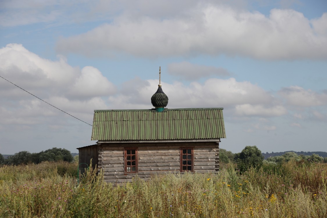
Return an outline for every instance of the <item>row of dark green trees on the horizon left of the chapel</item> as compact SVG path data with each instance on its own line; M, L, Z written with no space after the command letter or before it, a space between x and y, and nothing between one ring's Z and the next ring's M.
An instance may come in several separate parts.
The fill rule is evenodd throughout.
M41 163L42 161L67 161L72 162L74 160L70 151L64 148L51 148L39 153L30 153L28 151L20 151L8 158L4 158L0 154L0 164L7 165L20 165L28 163Z

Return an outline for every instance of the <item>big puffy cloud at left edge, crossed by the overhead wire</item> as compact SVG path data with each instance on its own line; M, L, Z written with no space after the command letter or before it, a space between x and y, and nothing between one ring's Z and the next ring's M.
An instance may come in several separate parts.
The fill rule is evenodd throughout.
M49 104L89 123L95 108L106 109L100 96L113 94L116 89L94 67L79 70L63 58L57 61L43 59L20 44L8 44L0 49L0 74ZM0 126L67 125L68 115L0 79Z

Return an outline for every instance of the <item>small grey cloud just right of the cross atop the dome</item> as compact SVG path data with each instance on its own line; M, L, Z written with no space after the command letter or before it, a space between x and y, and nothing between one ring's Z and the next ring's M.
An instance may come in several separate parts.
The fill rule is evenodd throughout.
M197 80L207 76L230 76L228 70L221 67L192 64L187 61L171 63L168 65L168 74L178 76L185 80Z

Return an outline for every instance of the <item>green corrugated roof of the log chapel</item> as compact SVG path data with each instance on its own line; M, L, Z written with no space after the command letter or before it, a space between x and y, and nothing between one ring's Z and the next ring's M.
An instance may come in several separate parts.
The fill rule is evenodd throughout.
M226 138L223 108L95 110L91 140Z

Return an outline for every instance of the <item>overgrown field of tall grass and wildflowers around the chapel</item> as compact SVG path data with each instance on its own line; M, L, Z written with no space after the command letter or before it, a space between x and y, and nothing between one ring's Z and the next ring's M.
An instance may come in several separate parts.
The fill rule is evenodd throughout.
M0 168L1 217L327 217L327 164L168 174L113 187L76 163Z

